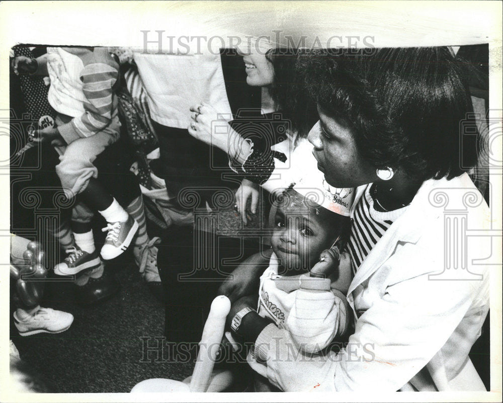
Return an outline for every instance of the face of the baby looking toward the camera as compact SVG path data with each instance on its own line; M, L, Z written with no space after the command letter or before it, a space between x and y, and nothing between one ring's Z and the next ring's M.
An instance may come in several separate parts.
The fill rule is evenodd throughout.
M279 207L274 219L271 246L285 269L283 275L305 273L331 246L326 224L310 209Z

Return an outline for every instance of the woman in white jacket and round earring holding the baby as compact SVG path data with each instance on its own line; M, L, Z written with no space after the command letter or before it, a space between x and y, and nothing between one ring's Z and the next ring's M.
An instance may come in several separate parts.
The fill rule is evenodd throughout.
M356 187L347 298L355 333L304 357L285 329L240 318L269 382L284 391L484 390L468 353L489 308L490 213L466 171L478 134L463 65L447 47L317 52L301 61L326 182ZM242 268L221 291L243 309Z

